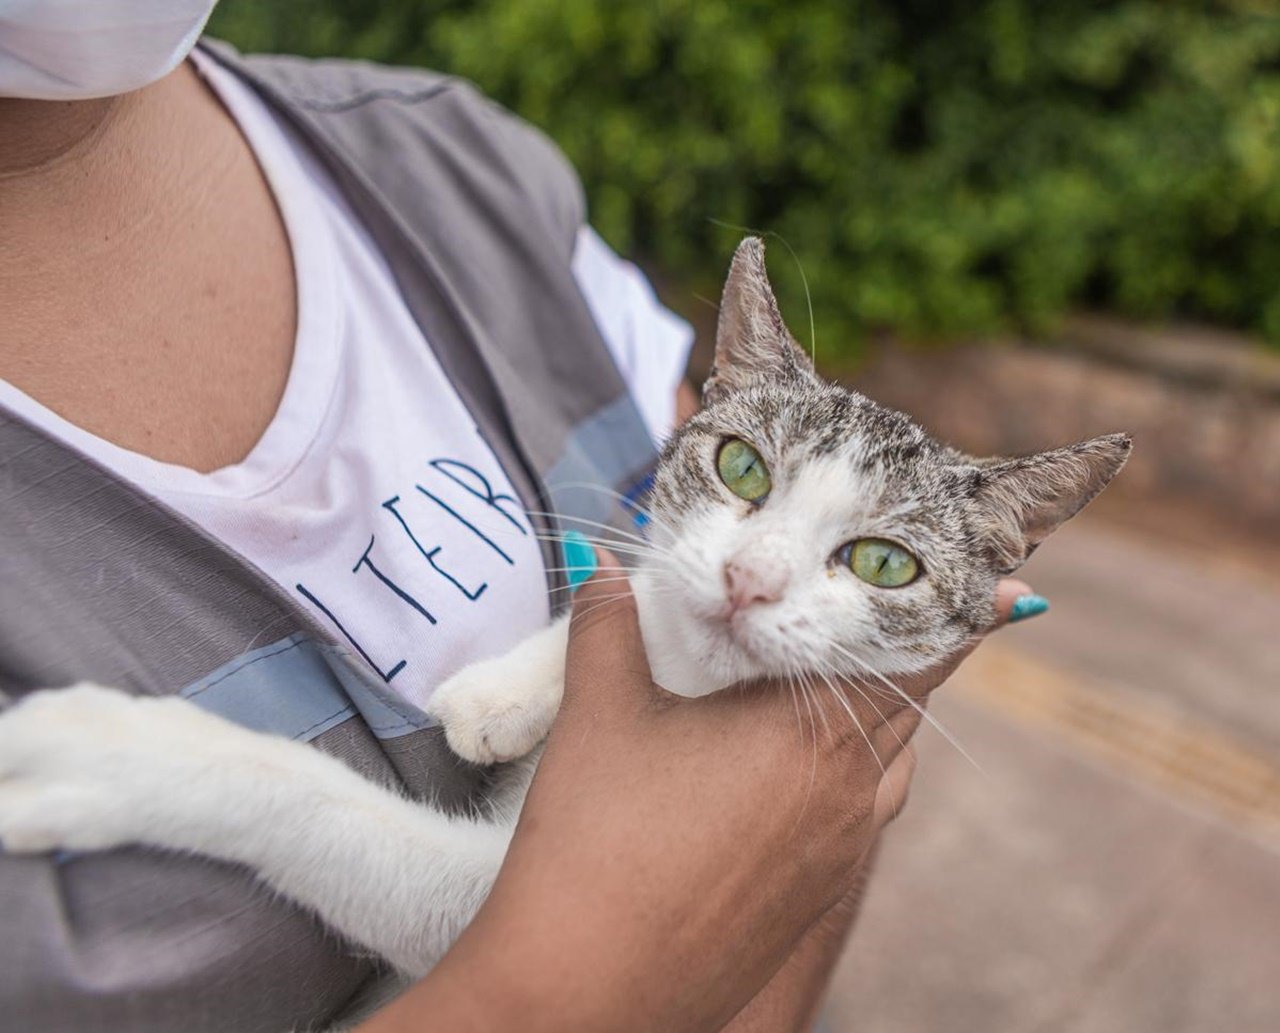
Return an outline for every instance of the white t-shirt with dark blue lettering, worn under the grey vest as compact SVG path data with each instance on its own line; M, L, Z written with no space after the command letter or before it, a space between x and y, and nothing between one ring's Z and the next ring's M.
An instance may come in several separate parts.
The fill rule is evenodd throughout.
M113 445L3 380L0 404L247 557L422 705L460 667L545 623L540 549L332 179L250 88L195 60L257 156L293 252L298 328L279 410L242 462L201 474ZM573 273L660 439L689 326L588 228Z

